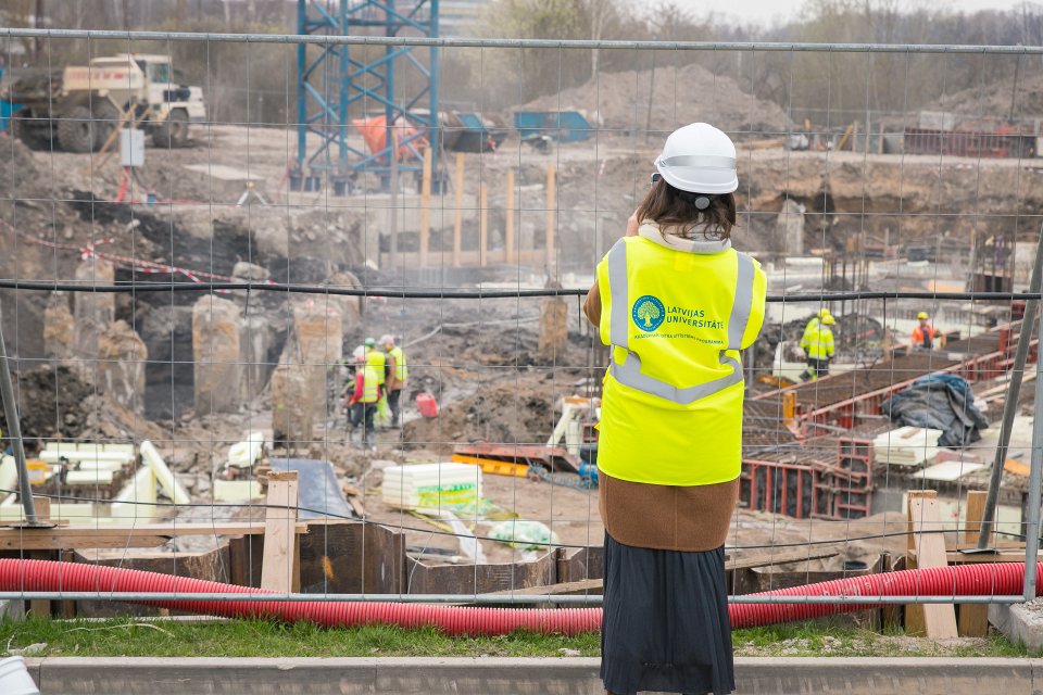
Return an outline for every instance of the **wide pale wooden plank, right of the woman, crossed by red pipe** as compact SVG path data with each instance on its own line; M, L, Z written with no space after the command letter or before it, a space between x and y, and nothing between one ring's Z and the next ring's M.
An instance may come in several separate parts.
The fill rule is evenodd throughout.
M938 493L933 490L910 491L907 514L909 542L915 551L916 566L919 568L947 567L945 536L940 532L942 520L938 507ZM925 634L932 640L957 636L956 611L953 604L907 606L906 632Z

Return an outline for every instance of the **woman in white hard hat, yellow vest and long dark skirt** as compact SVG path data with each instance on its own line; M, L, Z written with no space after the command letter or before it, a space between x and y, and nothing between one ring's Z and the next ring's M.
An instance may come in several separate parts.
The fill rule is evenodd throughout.
M764 321L761 265L731 245L736 147L673 132L583 309L610 345L598 443L610 693L730 693L724 543L739 494L740 351Z

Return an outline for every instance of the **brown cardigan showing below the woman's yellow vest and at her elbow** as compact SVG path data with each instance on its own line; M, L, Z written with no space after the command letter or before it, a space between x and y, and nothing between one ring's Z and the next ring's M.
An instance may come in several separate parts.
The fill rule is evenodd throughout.
M601 325L598 283L583 302L587 319ZM739 479L716 485L650 485L598 471L598 510L605 531L624 545L702 552L725 544L739 500Z

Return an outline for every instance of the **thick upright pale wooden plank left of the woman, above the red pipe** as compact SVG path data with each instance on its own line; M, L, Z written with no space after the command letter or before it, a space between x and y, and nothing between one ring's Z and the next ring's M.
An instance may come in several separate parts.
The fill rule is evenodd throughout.
M261 589L288 594L300 587L300 553L291 532L297 522L298 485L296 470L268 473Z

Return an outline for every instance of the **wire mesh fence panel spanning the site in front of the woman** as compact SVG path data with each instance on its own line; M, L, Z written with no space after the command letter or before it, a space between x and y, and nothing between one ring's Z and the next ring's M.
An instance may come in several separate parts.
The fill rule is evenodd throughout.
M733 240L769 283L743 355L730 599L1034 595L1036 92L925 103L910 76L1043 49L0 37L39 39L46 63L0 88L0 308L28 459L5 440L2 549L275 592L14 574L0 598L599 603L608 353L580 302L665 137L699 121L738 146ZM649 67L565 83L591 51ZM233 66L243 97L217 111ZM813 364L822 308L835 355ZM373 429L352 403L367 338L401 386ZM914 564L979 576L884 590Z

